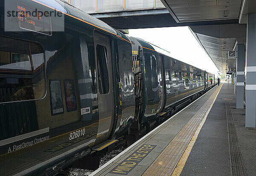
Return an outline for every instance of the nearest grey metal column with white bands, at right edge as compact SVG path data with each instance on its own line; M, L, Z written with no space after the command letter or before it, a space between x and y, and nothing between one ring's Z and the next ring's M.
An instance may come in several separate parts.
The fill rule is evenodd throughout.
M245 126L256 127L256 13L247 14Z

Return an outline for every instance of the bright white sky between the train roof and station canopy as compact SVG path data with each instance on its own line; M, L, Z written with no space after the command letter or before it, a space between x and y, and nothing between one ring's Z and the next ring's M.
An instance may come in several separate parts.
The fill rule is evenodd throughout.
M195 39L188 26L129 29L128 36L141 38L169 51L172 58L218 75L218 68Z

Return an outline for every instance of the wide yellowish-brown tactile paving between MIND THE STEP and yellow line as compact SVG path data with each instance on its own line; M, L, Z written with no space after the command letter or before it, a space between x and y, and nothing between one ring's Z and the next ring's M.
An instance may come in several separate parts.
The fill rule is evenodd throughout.
M180 130L180 132L172 139L162 153L154 160L154 162L143 173L143 176L171 176L181 156L186 150L189 141L193 137L198 125L201 123L204 115L209 110L212 101L218 94L218 89L210 96L204 105L192 116L188 123Z

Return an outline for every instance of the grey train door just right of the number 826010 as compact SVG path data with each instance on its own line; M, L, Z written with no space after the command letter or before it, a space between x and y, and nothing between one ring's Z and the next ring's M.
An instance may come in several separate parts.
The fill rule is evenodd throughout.
M108 36L94 33L99 127L96 144L109 138L114 121L114 93L111 44Z

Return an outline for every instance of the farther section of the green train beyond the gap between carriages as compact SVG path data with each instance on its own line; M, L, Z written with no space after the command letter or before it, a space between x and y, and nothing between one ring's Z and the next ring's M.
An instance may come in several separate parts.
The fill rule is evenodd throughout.
M134 62L136 110L130 132L149 129L150 121L169 116L215 84L215 75L163 54L142 39L129 37ZM136 136L136 135L135 135Z

